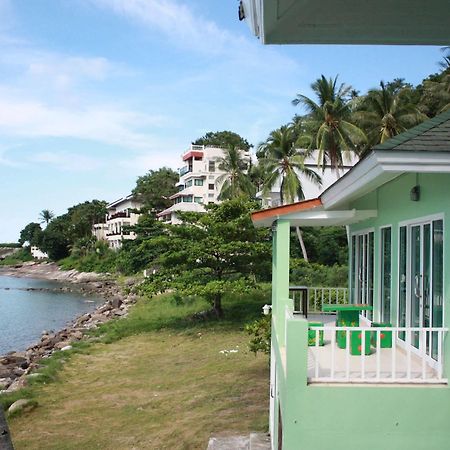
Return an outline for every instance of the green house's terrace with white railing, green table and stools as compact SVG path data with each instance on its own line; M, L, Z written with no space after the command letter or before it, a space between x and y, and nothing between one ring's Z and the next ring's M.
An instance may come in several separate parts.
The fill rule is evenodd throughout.
M349 303L346 288L291 286L290 297L285 304L290 331L280 356L286 367L287 355L296 358L299 342L307 342L302 363L307 384L447 384L448 328L430 321L378 322L370 304Z

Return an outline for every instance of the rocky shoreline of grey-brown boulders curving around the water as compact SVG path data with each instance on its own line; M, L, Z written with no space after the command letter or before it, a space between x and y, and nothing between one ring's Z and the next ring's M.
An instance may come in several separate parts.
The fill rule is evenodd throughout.
M24 263L14 267L0 267L0 275L21 278L39 278L64 283L59 291L78 292L105 299L91 313L76 318L62 330L44 331L41 339L24 352L9 352L0 356L0 395L14 392L26 386L32 372L39 368L39 361L55 351L66 351L72 343L86 339L85 332L111 319L126 317L130 305L137 300L135 294L126 293L109 274L64 271L54 263ZM134 280L126 283L130 291ZM46 288L45 288L46 289Z

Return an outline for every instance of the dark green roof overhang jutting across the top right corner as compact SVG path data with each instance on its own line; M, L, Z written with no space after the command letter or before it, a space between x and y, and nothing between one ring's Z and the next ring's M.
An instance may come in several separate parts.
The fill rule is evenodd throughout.
M448 45L448 0L242 0L263 44Z

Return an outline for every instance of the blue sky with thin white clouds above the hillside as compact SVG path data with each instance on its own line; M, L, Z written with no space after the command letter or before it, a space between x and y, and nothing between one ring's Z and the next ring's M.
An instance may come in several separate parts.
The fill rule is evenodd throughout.
M438 47L263 46L237 0L0 0L0 242L128 195L208 131L257 146L321 74L418 84Z

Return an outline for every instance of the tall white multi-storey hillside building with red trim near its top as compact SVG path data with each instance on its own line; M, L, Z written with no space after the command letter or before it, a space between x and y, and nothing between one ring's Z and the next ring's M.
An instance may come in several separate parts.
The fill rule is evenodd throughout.
M222 183L218 178L224 174L219 169L218 160L224 156L222 148L207 145L191 145L183 153L183 166L179 169L180 179L177 183L179 191L172 195L174 204L160 212L157 216L164 222L180 223L178 211L204 212L204 205L219 203ZM244 159L250 161L250 153L243 152Z

